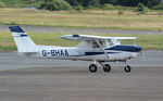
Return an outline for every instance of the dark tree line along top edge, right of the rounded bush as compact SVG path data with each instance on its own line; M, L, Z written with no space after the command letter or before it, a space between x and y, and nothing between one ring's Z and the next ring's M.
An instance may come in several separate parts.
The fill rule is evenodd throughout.
M150 9L163 2L163 0L66 0L66 1L73 7L82 4L84 8L88 7L101 8L104 4L137 7L138 3L142 3L143 5Z

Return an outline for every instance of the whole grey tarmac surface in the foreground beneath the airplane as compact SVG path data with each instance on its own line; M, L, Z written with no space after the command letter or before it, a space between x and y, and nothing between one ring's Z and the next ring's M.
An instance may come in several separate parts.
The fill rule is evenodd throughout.
M90 73L90 63L0 52L0 101L163 101L163 51L128 61L130 73L122 63Z

